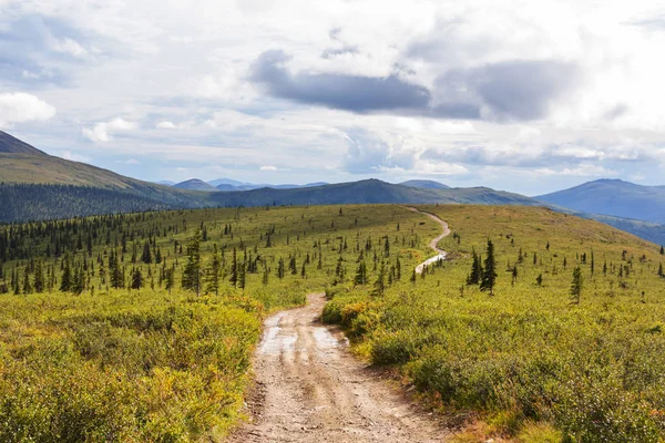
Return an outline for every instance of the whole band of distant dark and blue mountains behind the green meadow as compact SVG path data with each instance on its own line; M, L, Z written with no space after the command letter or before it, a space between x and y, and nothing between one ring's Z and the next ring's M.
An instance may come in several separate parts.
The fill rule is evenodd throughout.
M532 198L432 181L256 185L221 178L165 186L51 156L0 132L0 223L200 207L390 203L545 205L665 244L665 187L597 181Z

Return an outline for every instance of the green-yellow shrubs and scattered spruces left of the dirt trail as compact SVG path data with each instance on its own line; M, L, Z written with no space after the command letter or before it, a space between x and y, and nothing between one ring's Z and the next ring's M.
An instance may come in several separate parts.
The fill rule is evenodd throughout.
M437 234L421 222L337 206L0 227L0 441L225 434L263 318L344 286L359 255L371 282L382 261L412 267Z

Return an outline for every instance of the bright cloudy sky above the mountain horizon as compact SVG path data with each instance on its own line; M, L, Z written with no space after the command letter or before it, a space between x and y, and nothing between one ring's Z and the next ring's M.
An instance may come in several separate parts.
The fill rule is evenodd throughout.
M665 6L0 0L0 130L146 181L665 185Z

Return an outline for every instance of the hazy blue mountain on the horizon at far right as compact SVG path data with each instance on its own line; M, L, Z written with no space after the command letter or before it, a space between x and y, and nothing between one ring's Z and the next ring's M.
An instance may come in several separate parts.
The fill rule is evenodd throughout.
M534 198L582 213L665 224L665 187L662 186L600 179Z

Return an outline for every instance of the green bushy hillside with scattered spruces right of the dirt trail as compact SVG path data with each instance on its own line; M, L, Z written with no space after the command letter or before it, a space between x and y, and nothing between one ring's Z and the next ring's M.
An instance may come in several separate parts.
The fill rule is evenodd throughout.
M449 222L439 246L450 261L382 297L350 284L331 293L325 319L359 352L395 364L441 409L471 412L483 436L665 437L659 247L543 208L423 210ZM470 281L488 243L493 295Z

